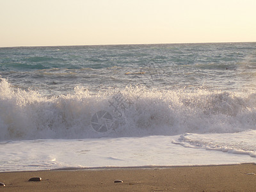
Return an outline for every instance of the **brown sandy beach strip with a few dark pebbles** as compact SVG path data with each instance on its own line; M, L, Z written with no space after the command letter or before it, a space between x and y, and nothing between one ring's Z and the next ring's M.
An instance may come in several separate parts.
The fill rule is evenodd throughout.
M256 191L255 173L256 164L2 172L0 191Z

